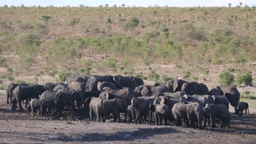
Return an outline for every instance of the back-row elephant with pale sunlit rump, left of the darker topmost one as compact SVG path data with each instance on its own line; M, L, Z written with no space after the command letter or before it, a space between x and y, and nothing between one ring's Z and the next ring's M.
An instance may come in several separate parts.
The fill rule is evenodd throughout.
M115 83L115 81L113 80L113 76L111 75L104 75L104 76L94 75L88 79L86 83L86 91L98 91L97 86L99 82Z

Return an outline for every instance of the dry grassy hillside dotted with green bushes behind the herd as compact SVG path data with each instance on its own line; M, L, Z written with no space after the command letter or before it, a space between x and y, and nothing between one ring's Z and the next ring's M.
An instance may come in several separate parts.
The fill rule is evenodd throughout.
M1 7L0 66L53 75L61 67L244 65L256 61L255 32L255 7Z

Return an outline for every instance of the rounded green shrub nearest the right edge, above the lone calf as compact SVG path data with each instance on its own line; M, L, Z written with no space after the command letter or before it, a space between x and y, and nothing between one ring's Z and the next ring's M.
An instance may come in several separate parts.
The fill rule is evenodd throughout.
M245 86L252 85L253 78L252 78L252 72L251 71L245 71L244 73L238 75L237 77L237 83L239 85L244 84Z

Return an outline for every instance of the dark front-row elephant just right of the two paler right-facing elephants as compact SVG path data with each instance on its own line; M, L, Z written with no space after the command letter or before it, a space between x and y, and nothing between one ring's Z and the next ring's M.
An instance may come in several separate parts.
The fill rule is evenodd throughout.
M154 99L143 99L142 97L132 98L131 99L131 107L135 109L136 114L132 111L133 120L136 124L138 124L139 119L142 121L143 124L146 123L147 116L149 114L149 105L152 103Z

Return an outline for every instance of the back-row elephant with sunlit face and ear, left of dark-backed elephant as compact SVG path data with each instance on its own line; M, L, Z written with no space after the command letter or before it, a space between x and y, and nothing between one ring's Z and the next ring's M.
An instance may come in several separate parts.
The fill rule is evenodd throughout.
M177 91L181 91L182 85L184 83L188 83L185 80L179 80L177 78L174 78L172 80L168 80L166 86L170 89L171 92L177 92Z

